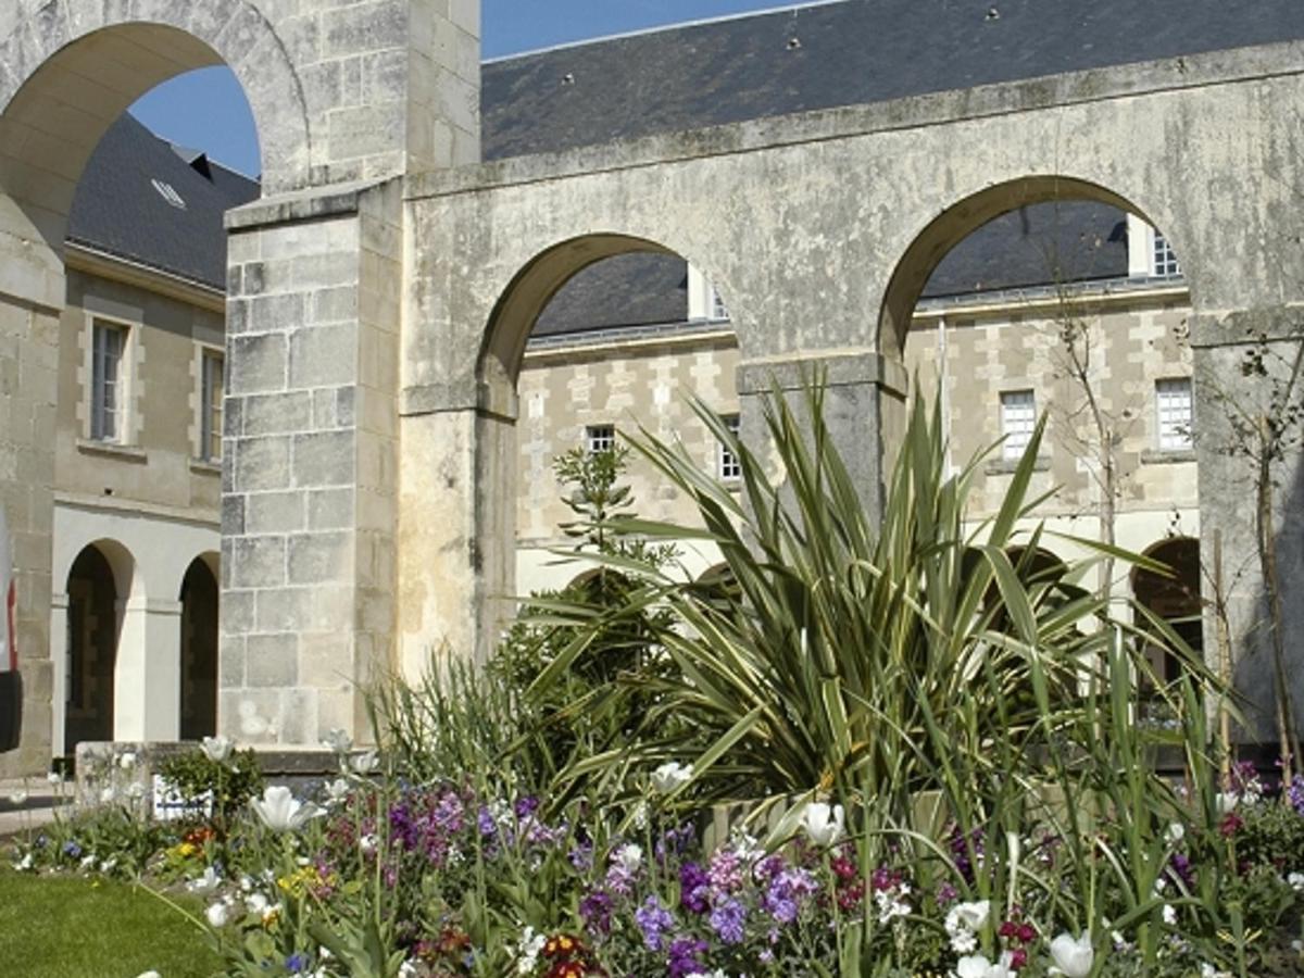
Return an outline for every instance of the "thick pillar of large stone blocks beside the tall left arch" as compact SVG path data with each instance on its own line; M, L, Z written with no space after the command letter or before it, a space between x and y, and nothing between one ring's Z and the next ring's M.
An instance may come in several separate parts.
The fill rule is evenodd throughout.
M220 729L361 730L391 659L399 185L228 218Z

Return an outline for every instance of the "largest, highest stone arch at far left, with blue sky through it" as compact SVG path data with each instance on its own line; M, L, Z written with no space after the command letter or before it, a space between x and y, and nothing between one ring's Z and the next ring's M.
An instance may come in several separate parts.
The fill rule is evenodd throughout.
M0 61L10 69L0 76L0 190L12 201L4 223L56 254L99 138L142 94L196 68L224 63L239 78L259 134L263 189L309 183L303 86L258 7L216 0L140 8L117 21L102 0L51 3L17 20L0 42Z

